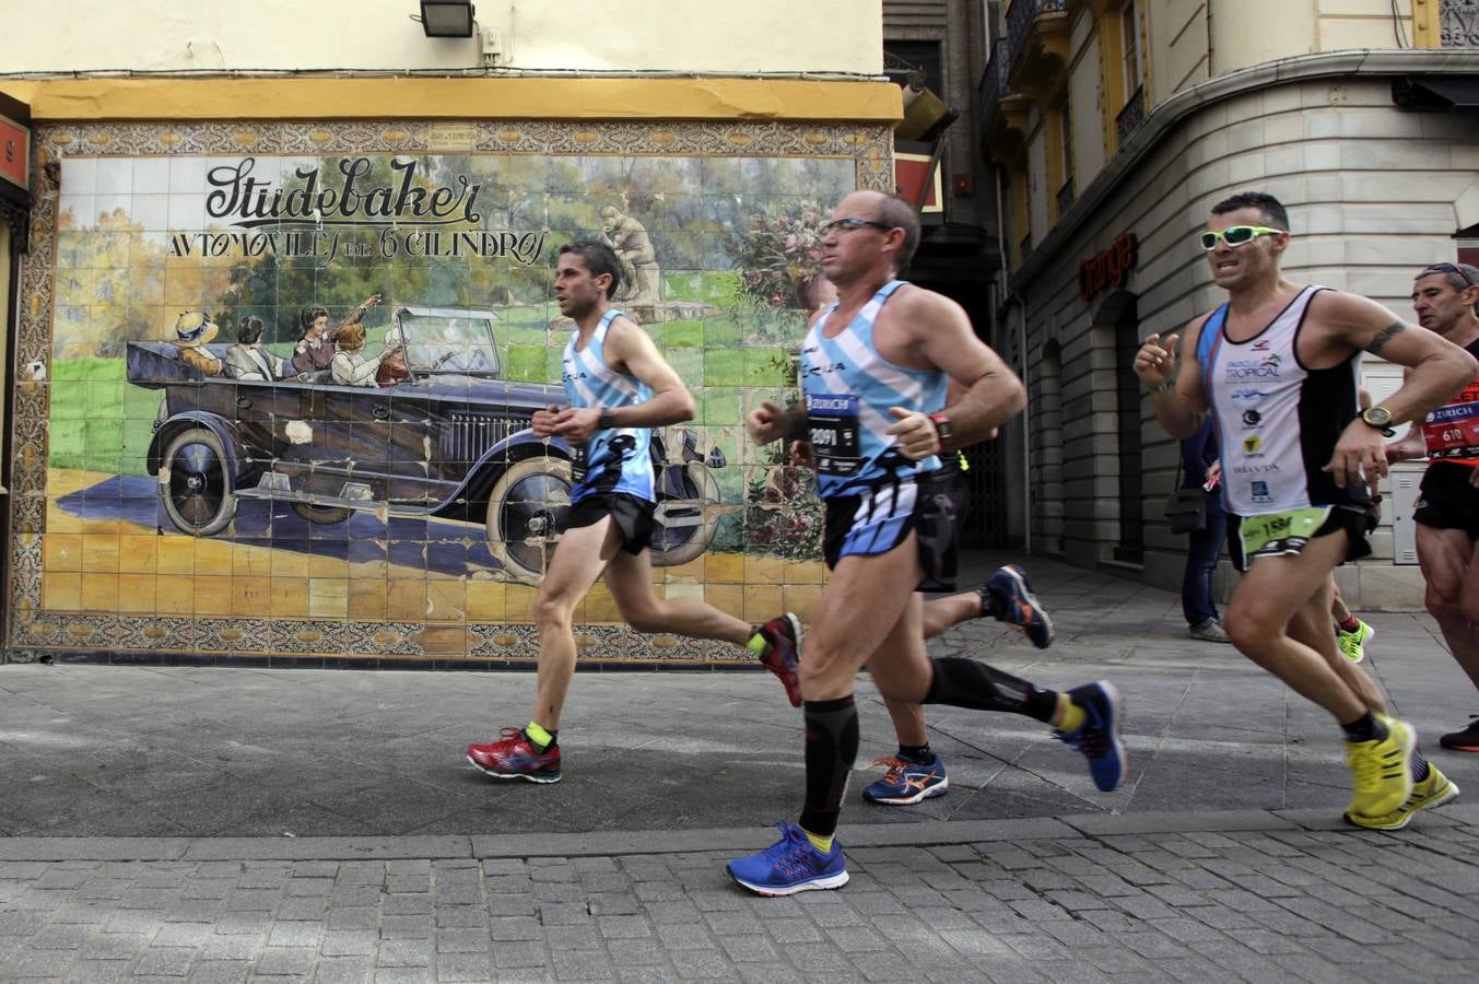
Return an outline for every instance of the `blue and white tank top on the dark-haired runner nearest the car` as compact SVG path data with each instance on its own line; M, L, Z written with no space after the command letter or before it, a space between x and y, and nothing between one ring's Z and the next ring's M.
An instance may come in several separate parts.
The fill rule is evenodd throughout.
M606 363L606 331L623 312L611 309L592 331L583 351L575 351L580 328L571 333L561 360L565 397L571 407L633 407L652 398L652 388L636 376L618 373ZM586 496L626 493L657 502L652 482L651 428L609 428L586 441L586 472L577 475L569 500Z

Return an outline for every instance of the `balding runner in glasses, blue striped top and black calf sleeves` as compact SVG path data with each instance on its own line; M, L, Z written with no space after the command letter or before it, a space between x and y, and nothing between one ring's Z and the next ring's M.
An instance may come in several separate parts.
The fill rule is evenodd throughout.
M916 586L939 564L952 519L935 490L938 453L986 438L1022 410L1025 388L958 305L896 278L918 228L896 195L859 191L842 200L822 226L822 269L840 302L812 318L802 343L805 404L765 404L745 419L757 444L810 444L831 568L800 664L800 823L781 824L778 843L729 863L735 880L762 895L847 882L834 835L858 755L852 691L864 666L890 700L1022 713L1050 725L1087 756L1103 790L1124 775L1109 684L1059 694L978 660L930 658L924 648ZM950 382L961 395L947 402Z

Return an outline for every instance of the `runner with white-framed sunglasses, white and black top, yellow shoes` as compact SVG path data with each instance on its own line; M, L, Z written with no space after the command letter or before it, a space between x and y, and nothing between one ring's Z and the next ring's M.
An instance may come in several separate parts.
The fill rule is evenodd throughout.
M1374 300L1284 280L1290 222L1272 195L1217 203L1198 238L1228 300L1183 334L1146 337L1134 371L1171 437L1194 434L1208 413L1223 435L1228 546L1244 571L1225 619L1232 644L1344 731L1353 786L1346 820L1396 830L1457 789L1418 753L1412 728L1387 715L1362 667L1340 654L1331 573L1371 552L1373 490L1387 474L1383 437L1439 407L1479 365ZM1362 351L1408 373L1381 405L1358 411Z

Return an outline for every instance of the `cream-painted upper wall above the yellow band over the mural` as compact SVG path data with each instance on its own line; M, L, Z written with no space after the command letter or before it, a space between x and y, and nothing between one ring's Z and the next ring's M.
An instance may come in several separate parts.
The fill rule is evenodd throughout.
M500 67L525 71L864 73L881 0L478 0ZM481 68L475 38L429 40L416 0L6 0L9 73ZM383 107L382 112L393 112Z

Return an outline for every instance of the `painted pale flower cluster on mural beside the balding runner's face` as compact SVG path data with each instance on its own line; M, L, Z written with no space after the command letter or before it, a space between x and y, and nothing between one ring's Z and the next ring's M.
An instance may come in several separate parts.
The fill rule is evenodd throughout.
M768 308L815 308L812 287L822 259L818 226L825 220L821 206L809 200L769 204L751 215L735 250L741 296Z

